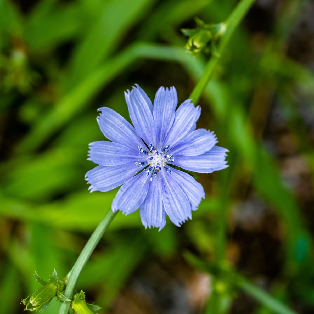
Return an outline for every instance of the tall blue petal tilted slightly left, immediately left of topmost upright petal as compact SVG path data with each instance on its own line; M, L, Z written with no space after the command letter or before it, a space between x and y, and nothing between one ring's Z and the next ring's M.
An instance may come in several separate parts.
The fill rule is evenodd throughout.
M132 123L146 144L156 143L156 132L153 118L153 105L146 93L138 84L131 91L124 92L127 108Z

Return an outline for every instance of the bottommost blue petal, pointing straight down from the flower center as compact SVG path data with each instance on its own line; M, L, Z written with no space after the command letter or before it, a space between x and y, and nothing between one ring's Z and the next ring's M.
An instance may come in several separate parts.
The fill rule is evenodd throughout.
M145 228L156 227L161 230L166 224L166 212L162 201L162 188L160 178L149 182L149 189L139 212Z

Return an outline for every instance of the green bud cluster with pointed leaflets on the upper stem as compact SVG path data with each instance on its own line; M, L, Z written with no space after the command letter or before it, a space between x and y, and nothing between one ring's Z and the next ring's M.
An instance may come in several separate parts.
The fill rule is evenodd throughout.
M189 37L186 48L193 57L203 51L206 54L217 54L216 43L225 33L225 24L205 24L201 19L196 18L198 27L196 29L182 29L182 33Z

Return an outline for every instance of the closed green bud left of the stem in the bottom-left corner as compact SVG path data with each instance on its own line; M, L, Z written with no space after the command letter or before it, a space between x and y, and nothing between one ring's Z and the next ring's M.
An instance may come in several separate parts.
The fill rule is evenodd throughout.
M41 310L50 300L57 295L58 286L48 283L39 287L35 292L23 300L25 310L38 311Z

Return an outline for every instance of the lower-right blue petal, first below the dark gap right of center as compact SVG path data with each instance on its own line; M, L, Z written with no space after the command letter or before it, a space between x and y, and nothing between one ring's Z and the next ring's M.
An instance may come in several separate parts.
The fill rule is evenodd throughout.
M198 208L199 203L201 203L202 198L205 198L205 192L202 184L198 183L198 181L196 181L192 176L190 176L186 172L176 170L172 167L171 176L187 195L192 205L192 210L196 210Z

